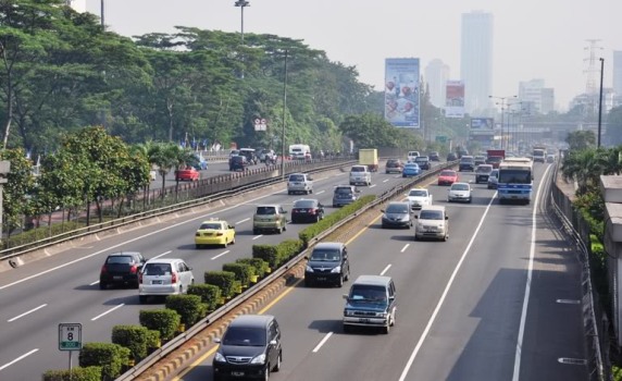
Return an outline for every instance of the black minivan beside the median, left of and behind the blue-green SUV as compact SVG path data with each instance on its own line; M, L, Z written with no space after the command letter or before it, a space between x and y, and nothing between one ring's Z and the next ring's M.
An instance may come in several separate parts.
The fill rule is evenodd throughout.
M322 242L313 246L304 269L307 287L325 283L341 287L350 279L350 261L346 244Z

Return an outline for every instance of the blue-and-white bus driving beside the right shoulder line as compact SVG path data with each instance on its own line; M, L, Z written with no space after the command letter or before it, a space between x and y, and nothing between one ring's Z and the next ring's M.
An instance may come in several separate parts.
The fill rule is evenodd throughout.
M507 158L499 164L497 193L499 204L517 201L528 205L534 183L533 161L528 158Z

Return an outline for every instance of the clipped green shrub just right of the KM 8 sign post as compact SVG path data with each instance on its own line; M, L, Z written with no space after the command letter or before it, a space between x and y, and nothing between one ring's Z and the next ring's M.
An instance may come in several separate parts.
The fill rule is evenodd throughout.
M79 353L80 367L101 367L101 379L114 380L121 376L123 366L129 364L128 348L112 343L86 343Z

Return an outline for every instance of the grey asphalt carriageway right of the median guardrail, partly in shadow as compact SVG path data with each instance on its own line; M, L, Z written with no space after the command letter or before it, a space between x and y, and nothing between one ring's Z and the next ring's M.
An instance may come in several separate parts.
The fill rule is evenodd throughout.
M544 213L548 164L536 164L531 206L499 205L474 185L472 204L446 201L448 242L414 242L412 230L383 230L380 216L348 241L352 279L394 278L396 327L388 335L345 334L343 288L298 282L262 314L283 332L273 380L587 380L581 276L575 256ZM550 171L546 172L547 175ZM461 181L473 175L460 174ZM537 195L537 196L536 196ZM539 204L536 205L536 200ZM178 379L211 380L215 347ZM176 379L176 380L178 380Z

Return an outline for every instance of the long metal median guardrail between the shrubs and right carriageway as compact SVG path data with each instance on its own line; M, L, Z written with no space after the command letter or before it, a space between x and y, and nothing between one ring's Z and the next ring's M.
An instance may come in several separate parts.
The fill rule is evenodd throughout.
M202 319L201 321L199 321L198 323L192 325L190 329L186 330L184 333L175 336L175 339L167 342L162 347L158 348L151 355L147 356L145 359L142 359L140 362L138 362L136 366L134 366L132 369L127 370L125 373L123 373L121 377L119 377L116 379L116 381L135 380L138 376L142 374L147 369L149 369L154 364L157 364L158 361L160 361L161 359L163 359L164 357L166 357L167 355L170 355L171 353L173 353L174 351L179 348L188 340L192 339L196 334L201 332L203 329L208 328L211 323L213 323L214 321L217 321L223 316L229 314L234 308L236 308L236 307L242 305L244 303L246 303L247 300L249 300L253 295L261 292L265 286L268 286L271 283L273 283L274 281L278 280L281 276L285 275L293 267L298 265L298 262L300 262L304 258L304 256L307 256L309 254L309 250L318 242L322 241L323 238L325 238L326 236L332 234L337 229L350 223L352 220L354 220L361 213L370 210L371 208L374 208L374 207L376 207L383 202L386 202L387 200L396 197L397 195L401 195L406 189L414 186L418 183L421 183L425 180L428 180L432 176L437 175L438 172L440 172L447 168L455 167L457 163L458 163L458 161L452 161L452 162L448 162L445 164L434 167L430 171L426 171L425 173L420 174L419 176L412 177L411 181L409 181L407 183L402 183L400 185L396 185L393 188L384 192L374 201L365 205L363 208L361 208L360 210L357 210L354 213L352 213L348 218L339 221L334 226L331 226L331 229L328 229L328 230L322 232L321 234L319 234L318 236L315 236L309 243L309 246L304 250L302 250L296 257L291 258L287 263L285 263L284 266L282 266L281 268L278 268L274 272L272 272L266 278L262 279L259 283L257 283L252 287L248 288L244 293L234 297L227 304L221 306L219 309L216 309L215 311L213 311L212 314L207 316L204 319Z

